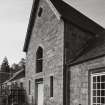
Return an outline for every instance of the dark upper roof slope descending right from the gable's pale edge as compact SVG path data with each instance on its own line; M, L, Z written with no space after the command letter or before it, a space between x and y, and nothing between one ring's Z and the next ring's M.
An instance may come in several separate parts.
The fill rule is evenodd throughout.
M89 19L81 12L65 3L62 0L51 0L55 8L61 14L63 19L79 26L80 28L89 31L93 34L101 33L104 29L93 20Z

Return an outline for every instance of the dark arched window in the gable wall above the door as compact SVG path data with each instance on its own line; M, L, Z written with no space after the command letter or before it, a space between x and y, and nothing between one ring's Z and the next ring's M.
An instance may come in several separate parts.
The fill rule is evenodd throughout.
M43 49L39 47L36 52L36 73L42 72L43 67Z

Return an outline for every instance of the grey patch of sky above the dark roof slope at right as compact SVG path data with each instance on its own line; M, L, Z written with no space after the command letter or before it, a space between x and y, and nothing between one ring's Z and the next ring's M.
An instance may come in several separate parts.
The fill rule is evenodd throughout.
M105 28L105 0L66 0L66 2Z

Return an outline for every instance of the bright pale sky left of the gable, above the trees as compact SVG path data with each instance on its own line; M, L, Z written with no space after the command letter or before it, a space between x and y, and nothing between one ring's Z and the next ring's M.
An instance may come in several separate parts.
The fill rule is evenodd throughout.
M26 36L32 0L0 0L0 65L7 56L10 65L25 57Z

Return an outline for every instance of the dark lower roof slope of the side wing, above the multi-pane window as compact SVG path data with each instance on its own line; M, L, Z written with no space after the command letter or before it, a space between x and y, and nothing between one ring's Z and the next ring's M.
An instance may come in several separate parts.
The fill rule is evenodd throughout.
M100 36L90 40L88 47L74 61L69 61L68 65L76 65L89 60L105 56L105 32Z

